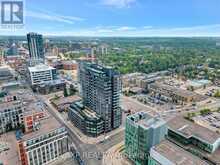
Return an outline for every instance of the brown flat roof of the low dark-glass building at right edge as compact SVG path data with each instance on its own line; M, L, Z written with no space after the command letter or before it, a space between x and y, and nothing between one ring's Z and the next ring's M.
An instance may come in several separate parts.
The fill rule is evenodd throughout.
M211 144L220 138L219 133L184 119L182 116L177 116L171 119L168 122L168 128L180 133L186 138L194 136Z

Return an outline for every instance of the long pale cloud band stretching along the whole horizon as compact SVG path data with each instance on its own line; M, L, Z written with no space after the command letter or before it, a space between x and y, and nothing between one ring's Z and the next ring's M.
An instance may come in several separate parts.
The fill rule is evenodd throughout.
M119 31L120 29L120 31ZM30 29L29 29L30 31ZM51 36L93 36L93 37L220 37L220 24L195 25L188 27L152 27L152 26L96 26L91 28L75 28L73 30L56 31L53 29L45 29L38 31L43 35ZM0 35L25 35L26 31L7 31L0 29Z

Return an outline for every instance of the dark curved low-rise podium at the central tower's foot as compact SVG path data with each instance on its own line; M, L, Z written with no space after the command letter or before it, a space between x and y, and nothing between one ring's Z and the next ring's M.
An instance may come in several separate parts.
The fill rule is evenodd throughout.
M84 107L82 101L70 105L68 117L87 136L97 137L104 132L104 120L95 111Z

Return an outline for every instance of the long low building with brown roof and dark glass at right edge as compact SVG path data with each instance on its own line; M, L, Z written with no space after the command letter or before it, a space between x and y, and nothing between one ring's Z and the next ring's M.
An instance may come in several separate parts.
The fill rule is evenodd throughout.
M196 146L208 153L214 153L220 147L219 133L191 122L182 116L175 117L168 122L168 136L185 146Z

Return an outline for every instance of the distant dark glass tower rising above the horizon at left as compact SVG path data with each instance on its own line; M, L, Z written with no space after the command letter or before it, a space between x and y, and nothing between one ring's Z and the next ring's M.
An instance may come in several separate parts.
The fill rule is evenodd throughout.
M28 33L27 41L30 54L30 64L36 65L44 63L43 36L37 33Z

